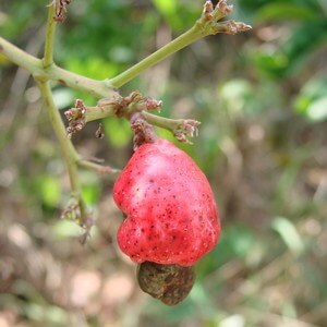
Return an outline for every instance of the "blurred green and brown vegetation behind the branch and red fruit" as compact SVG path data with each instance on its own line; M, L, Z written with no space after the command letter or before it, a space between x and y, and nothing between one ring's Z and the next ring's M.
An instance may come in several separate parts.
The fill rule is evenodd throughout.
M121 89L162 99L162 116L202 121L194 145L181 147L215 190L223 233L175 307L138 290L117 247L113 177L83 171L98 217L85 246L78 227L59 219L69 181L39 90L0 57L1 327L327 325L327 2L234 5L252 32L207 37ZM113 76L192 26L201 9L199 0L72 1L57 62ZM44 1L1 1L1 35L31 53L41 56L45 22ZM60 109L95 101L62 86L55 96ZM121 168L129 124L102 123L104 140L89 123L74 144Z

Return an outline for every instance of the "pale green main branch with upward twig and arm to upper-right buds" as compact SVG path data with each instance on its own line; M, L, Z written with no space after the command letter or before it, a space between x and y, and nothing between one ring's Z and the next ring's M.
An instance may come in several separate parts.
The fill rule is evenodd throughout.
M228 5L226 0L220 0L215 9L213 8L211 2L207 1L204 5L204 11L201 19L194 24L193 27L132 68L113 78L107 78L105 81L84 77L82 75L63 70L53 63L52 52L56 32L53 5L49 7L44 61L19 49L2 37L0 37L0 52L8 57L8 59L12 62L28 70L34 76L52 80L74 89L92 94L96 97L111 97L117 94L117 92L113 89L114 87L120 87L126 84L131 80L142 74L145 70L165 60L169 56L191 45L199 38L217 33L235 34L238 32L250 29L251 26L244 23L238 23L234 21L225 21L221 23L218 22L228 13L230 13L232 7Z

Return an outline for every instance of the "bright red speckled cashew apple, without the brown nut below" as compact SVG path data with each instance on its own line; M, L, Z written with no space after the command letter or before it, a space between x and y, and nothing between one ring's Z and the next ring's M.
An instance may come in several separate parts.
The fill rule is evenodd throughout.
M220 222L208 180L166 140L137 148L113 199L126 214L118 244L135 263L191 266L217 244Z

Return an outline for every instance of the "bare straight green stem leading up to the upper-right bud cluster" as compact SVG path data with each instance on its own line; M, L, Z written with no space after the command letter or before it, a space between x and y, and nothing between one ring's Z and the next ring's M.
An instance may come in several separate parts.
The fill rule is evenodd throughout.
M205 36L205 34L203 34L201 28L194 25L192 28L190 28L189 31L186 31L185 33L183 33L182 35L180 35L179 37L177 37L175 39L157 50L156 52L146 57L135 65L117 75L116 77L108 78L105 82L107 83L107 85L113 87L121 87L122 85L126 84L128 82L143 73L148 68L162 61L167 57L179 51L180 49L191 45L192 43L194 43L203 36Z

